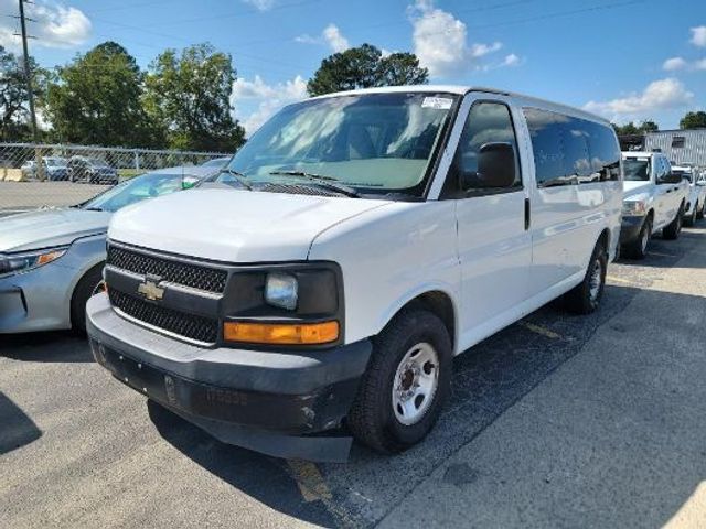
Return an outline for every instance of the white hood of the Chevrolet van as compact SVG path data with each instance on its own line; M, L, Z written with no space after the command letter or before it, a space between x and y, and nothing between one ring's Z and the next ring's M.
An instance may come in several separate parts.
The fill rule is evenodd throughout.
M120 209L108 237L226 262L306 260L328 227L389 202L195 188Z

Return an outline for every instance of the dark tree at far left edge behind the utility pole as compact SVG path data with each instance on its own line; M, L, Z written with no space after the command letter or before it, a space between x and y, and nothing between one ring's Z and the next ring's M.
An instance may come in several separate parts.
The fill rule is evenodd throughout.
M41 110L49 72L40 68L33 57L30 57L30 69L36 108ZM30 140L31 132L24 66L17 55L0 46L0 140Z

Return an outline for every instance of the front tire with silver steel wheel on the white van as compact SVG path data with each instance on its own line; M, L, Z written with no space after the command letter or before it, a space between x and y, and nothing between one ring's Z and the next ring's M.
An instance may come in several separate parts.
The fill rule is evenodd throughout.
M424 309L405 309L373 338L373 355L347 417L353 436L402 452L434 428L451 387L451 339Z

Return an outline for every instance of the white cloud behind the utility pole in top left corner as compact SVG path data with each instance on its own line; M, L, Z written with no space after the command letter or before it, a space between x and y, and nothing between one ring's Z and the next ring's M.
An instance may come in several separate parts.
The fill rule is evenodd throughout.
M0 0L0 12L14 13L17 7L13 0ZM28 3L25 9L28 18L33 19L28 28L36 37L32 46L73 47L90 37L90 20L79 9L55 2ZM11 18L0 20L0 45L20 47L19 37L13 35L15 22Z

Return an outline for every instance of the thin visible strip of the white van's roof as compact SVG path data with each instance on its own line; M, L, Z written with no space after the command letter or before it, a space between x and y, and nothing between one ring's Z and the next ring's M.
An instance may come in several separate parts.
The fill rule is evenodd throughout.
M538 97L525 96L523 94L516 94L510 90L501 90L498 88L489 88L483 86L469 86L469 85L406 85L406 86L384 86L375 88L359 88L356 90L336 91L333 94L324 94L323 96L317 96L312 99L322 99L327 97L344 96L344 95L359 95L359 94L394 94L402 91L436 91L456 94L459 96L466 95L470 91L495 94L499 96L507 96L518 99L522 105L538 107L555 112L566 114L576 118L586 118L593 121L600 121L601 123L610 125L606 118L592 112L588 112L580 108L570 107L560 102L553 102Z

